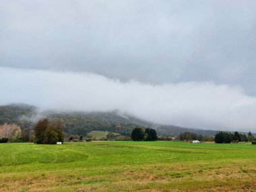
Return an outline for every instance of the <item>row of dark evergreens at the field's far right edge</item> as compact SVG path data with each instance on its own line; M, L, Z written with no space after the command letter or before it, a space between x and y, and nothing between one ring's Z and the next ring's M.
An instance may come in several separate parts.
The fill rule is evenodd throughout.
M237 142L247 142L247 141L254 141L255 138L251 131L248 135L238 133L235 131L234 133L230 133L227 131L220 131L215 135L215 143L237 143Z

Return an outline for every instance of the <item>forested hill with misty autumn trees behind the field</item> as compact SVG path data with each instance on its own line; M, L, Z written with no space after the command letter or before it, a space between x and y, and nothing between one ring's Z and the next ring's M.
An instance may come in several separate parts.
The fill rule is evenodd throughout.
M130 135L131 130L138 126L152 127L161 135L179 135L185 131L201 135L215 135L216 131L188 129L172 125L154 125L147 121L131 116L110 113L60 113L44 111L38 113L36 106L28 104L10 104L0 106L0 125L3 123L16 123L22 129L32 129L38 119L48 117L52 121L62 121L65 132L69 134L86 135L90 131L113 131L122 135Z

